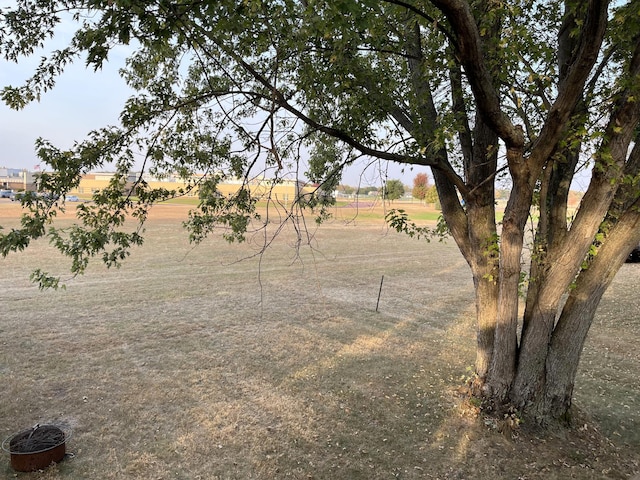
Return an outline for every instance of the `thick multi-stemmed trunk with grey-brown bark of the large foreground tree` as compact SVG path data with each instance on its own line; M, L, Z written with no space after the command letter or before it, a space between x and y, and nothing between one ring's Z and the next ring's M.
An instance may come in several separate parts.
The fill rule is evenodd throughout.
M531 414L542 423L563 416L571 404L582 345L595 307L610 282L608 276L598 279L596 274L583 272L584 280L578 282L562 310L563 301L580 272L581 263L617 190L619 170L616 167L624 165L631 136L627 127L637 123L637 118L633 118L631 101L621 96L616 101L617 111L610 119L599 150L601 160L606 157L608 161L603 161L594 170L601 173L594 175L583 205L569 228L567 197L581 153L579 140L576 144L576 138L579 138L576 132L586 122L583 95L604 39L608 2L590 0L581 4L579 9L574 8L571 2L565 3L565 18L558 32L555 98L546 101L546 119L538 132L530 131L530 125L525 123L531 141L525 146L522 128L503 114L501 98L497 95L500 90L497 83L501 72L500 56L492 56L490 52L495 52L491 45L501 38L500 20L485 16L491 10L486 2L475 3L473 8L464 2L434 2L455 32L455 54L464 67L475 100L473 139L468 124L462 123L458 131L466 189L458 188L459 193L465 196L466 222L460 215L457 201L453 201L457 200L456 192L453 189L445 191L447 189L441 188L437 176L434 176L441 199L443 195L448 196L443 202L443 214L473 274L478 328L478 385L482 387L484 400L491 406L515 405L525 415ZM478 29L478 26L482 28ZM631 62L630 67L630 78L636 78L635 62ZM460 82L455 81L458 74L454 71L452 75L453 110L466 118L463 95L459 93ZM631 93L637 96L637 92ZM625 106L625 102L628 105ZM435 125L437 119L433 116L432 102L429 107L430 115L427 117ZM621 129L619 125L625 128ZM488 135L485 129L495 132L496 136ZM494 183L496 172L496 164L492 165L492 172L484 170L484 157L491 151L487 147L497 147L497 137L506 148L512 179L499 243L496 243L495 235L492 236L492 232L496 232L495 212L485 208L487 204L484 203L488 198L485 183ZM473 153L470 152L472 149ZM538 181L541 184L540 223L532 252L522 333L519 335L519 287L525 225ZM451 202L448 204L447 200ZM486 215L491 215L493 230ZM499 257L493 258L497 244ZM620 258L613 261L613 257L609 257L607 267L617 270L621 261ZM560 311L563 311L561 316Z

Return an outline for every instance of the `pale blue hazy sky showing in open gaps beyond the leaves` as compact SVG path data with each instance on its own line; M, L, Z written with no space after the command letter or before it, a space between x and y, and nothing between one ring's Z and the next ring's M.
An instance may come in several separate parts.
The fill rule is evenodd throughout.
M63 37L67 36L65 33ZM52 90L23 110L12 110L0 102L0 167L34 170L39 165L34 148L39 137L56 147L69 148L74 141L82 141L91 130L118 124L120 110L133 93L118 74L126 53L124 48L112 52L107 65L98 72L85 68L82 60L68 66ZM38 61L38 55L22 59L19 64L0 59L0 88L22 85ZM386 176L411 187L418 173L429 173L426 167L405 166L403 169L386 161L375 162L363 172L369 161L362 160L348 168L342 183L381 185L381 179Z

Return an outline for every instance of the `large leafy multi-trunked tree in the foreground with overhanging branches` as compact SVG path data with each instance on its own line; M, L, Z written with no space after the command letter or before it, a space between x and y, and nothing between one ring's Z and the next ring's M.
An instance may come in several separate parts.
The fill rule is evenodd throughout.
M476 291L474 392L489 408L518 408L540 423L565 418L580 353L603 292L640 241L637 0L77 0L16 2L0 17L9 60L33 54L65 11L77 32L33 78L3 90L22 108L53 87L69 62L99 69L109 52L133 51L122 75L137 91L121 125L69 151L37 144L45 189L63 195L80 175L117 165L111 188L79 209L68 231L48 227L55 204L28 196L23 226L2 253L49 236L81 273L92 256L118 264L142 242L125 214L180 192L121 195L137 154L155 175L199 185L187 222L199 241L219 225L241 240L255 214L247 188L216 195L225 176L248 181L257 165L299 171L306 145L334 144L315 164L337 184L358 156L431 167L449 231ZM321 156L320 158L326 158ZM590 168L578 211L571 181ZM194 176L205 172L205 176ZM510 184L500 224L495 184ZM532 207L534 245L523 245ZM293 216L291 218L294 218ZM427 233L398 212L399 230ZM523 261L528 262L519 316ZM45 272L36 279L56 280Z

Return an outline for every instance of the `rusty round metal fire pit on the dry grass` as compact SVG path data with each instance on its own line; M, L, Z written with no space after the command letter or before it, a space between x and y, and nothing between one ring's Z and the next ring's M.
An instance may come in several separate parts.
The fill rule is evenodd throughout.
M59 462L66 453L65 433L54 425L35 425L2 442L11 455L11 466L19 472L32 472Z

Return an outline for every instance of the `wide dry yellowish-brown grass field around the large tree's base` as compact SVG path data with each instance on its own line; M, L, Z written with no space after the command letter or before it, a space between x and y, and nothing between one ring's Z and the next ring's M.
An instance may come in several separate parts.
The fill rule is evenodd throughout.
M299 249L292 228L264 255L260 233L193 248L186 208L157 208L121 269L96 264L64 291L29 283L36 267L64 271L46 242L0 260L0 436L61 424L73 453L33 474L3 453L0 478L640 473L640 265L623 266L598 310L576 385L584 420L568 433L511 432L456 395L475 331L470 273L451 241L346 212ZM0 203L0 224L18 213Z

